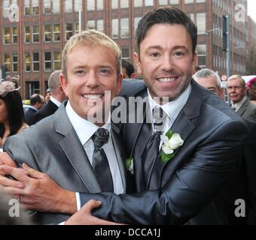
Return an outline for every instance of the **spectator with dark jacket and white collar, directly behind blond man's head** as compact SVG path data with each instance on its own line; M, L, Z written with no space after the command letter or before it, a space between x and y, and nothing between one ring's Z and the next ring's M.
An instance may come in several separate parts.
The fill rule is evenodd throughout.
M50 74L48 80L48 87L50 91L50 101L38 110L37 113L33 116L30 124L35 124L43 118L46 118L48 115L52 115L56 112L56 110L60 107L63 101L67 99L65 92L60 86L59 75L61 71L54 71Z

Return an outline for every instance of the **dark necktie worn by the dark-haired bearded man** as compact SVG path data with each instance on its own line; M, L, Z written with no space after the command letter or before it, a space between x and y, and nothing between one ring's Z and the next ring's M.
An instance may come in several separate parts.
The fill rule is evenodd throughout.
M163 132L164 120L166 114L163 114L163 110L160 107L155 107L153 110L154 118L154 134L148 140L147 145L142 153L142 167L144 170L145 186L148 187L148 180L151 170L153 169L154 162L157 159L160 145L160 135Z

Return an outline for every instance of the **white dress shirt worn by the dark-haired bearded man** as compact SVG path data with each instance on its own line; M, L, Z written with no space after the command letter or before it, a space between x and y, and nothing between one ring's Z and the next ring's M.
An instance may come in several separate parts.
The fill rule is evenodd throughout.
M187 103L187 100L189 98L191 92L191 84L187 86L187 89L184 90L184 92L181 93L178 98L176 98L174 101L170 101L167 104L159 105L156 101L151 97L149 91L148 91L148 101L149 101L149 107L151 111L151 121L152 129L154 129L154 118L153 118L153 109L155 107L161 107L163 111L168 115L168 121L166 121L165 126L163 127L163 133L161 136L165 136L167 131L172 127L173 122L178 117L178 114L181 112L184 105ZM154 130L152 131L152 135L154 134ZM161 145L163 144L163 140L160 140L159 149L161 148Z

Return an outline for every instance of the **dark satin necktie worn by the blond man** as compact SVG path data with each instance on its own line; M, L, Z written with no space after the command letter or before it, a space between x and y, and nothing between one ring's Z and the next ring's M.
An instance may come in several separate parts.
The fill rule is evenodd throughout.
M108 142L108 137L109 133L105 128L99 128L92 136L94 142L93 169L99 180L102 191L113 192L113 180L108 165L108 158L102 148L102 146Z

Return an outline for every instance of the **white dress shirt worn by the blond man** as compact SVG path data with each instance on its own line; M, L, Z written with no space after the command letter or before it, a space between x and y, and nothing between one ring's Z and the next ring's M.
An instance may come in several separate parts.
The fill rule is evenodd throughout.
M71 104L68 102L66 105L66 113L71 121L72 126L75 129L75 132L78 134L78 138L82 145L84 145L84 149L86 151L87 157L90 160L91 165L93 166L93 151L94 151L94 143L91 139L91 136L96 132L99 128L95 124L90 121L81 118L75 111L72 109ZM113 142L111 140L111 122L110 117L108 121L102 126L109 131L109 139L108 142L103 145L103 149L108 158L108 164L111 171L113 184L114 184L114 193L120 194L123 193L123 182L120 175L120 169L117 163L117 156L114 151ZM76 193L78 210L81 208L80 196L79 193Z

